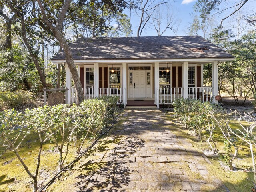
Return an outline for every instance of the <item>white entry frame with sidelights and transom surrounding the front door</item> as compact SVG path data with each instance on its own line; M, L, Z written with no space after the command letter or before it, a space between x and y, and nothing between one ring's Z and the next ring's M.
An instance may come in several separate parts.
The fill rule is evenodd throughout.
M134 92L132 94L132 96L130 96L130 70L129 67L150 67L150 96L147 97L147 91L146 91L146 98L152 98L152 90L153 90L153 67L152 67L152 63L148 63L148 64L127 64L127 98L134 98ZM132 70L134 71L134 70ZM146 70L147 71L147 70ZM133 78L134 78L134 73L133 73ZM146 78L147 78L147 72L146 72ZM146 86L147 86L147 81L146 81Z

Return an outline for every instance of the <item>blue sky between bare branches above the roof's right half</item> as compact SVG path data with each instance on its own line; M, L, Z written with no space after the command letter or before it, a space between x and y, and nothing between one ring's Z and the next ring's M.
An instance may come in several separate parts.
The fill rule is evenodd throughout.
M220 5L220 9L225 9L228 8L232 5L234 5L236 2L240 2L238 0L225 0L223 3ZM176 15L176 18L180 19L180 26L178 30L177 35L188 35L188 27L193 21L193 17L191 14L198 14L194 12L194 4L196 3L196 0L175 0L171 2L171 8L174 14ZM237 25L237 19L235 18L238 14L243 15L243 14L248 14L248 13L254 13L256 10L256 0L249 0L246 2L246 4L241 8L237 14L234 14L234 16L228 18L227 20L224 21L224 26L226 28L232 28L234 31L236 30L236 25ZM164 12L167 12L167 10L163 10ZM220 15L215 15L213 17L214 22L216 25L220 24L220 19L224 18L226 15L228 15L232 10L227 9L226 11L222 12ZM126 10L125 12L127 15L130 15L130 12ZM133 34L132 36L136 36L136 31L138 28L138 16L136 16L135 13L131 14L131 24L132 24L132 30ZM242 21L243 25L245 20ZM175 35L174 32L171 30L166 30L162 36L172 36ZM199 33L199 35L203 36L203 34ZM147 27L146 30L142 32L141 36L157 36L157 33L154 29Z

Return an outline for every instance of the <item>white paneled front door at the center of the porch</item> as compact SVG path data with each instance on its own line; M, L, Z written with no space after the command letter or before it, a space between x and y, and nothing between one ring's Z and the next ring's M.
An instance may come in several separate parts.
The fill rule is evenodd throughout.
M146 98L146 71L134 70L134 98Z

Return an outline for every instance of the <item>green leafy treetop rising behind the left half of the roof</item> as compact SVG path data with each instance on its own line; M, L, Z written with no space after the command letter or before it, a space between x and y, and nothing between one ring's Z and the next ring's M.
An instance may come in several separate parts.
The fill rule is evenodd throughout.
M130 18L122 13L125 2L106 4L102 1L80 1L78 10L72 15L72 30L79 36L129 36L131 34ZM111 7L110 7L111 5ZM112 26L116 22L116 27Z

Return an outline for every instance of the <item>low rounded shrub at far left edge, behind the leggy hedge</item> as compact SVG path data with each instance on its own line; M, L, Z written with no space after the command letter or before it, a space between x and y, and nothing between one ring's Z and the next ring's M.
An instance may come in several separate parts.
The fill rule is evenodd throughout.
M0 92L0 110L21 108L32 103L34 94L29 91L18 90Z

